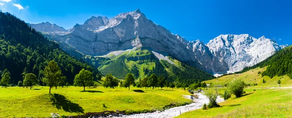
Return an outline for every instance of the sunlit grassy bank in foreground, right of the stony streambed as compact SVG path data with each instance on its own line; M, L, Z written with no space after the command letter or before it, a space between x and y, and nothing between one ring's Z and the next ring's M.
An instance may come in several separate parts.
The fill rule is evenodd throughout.
M228 99L221 107L195 110L177 118L292 118L292 89L261 89Z

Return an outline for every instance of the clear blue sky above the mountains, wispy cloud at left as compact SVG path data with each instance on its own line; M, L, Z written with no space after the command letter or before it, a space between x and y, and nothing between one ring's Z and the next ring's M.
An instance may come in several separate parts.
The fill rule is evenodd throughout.
M220 34L248 33L292 44L292 0L0 0L3 12L28 23L48 21L65 29L90 16L112 18L137 8L188 40L207 43Z

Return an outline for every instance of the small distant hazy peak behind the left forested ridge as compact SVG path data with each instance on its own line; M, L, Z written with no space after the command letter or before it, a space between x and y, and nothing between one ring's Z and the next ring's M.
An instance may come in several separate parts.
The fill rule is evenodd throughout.
M46 23L40 23L40 24L28 24L32 28L34 28L37 31L43 31L43 32L60 32L60 31L67 31L63 27L59 27L56 24L51 24L49 22Z

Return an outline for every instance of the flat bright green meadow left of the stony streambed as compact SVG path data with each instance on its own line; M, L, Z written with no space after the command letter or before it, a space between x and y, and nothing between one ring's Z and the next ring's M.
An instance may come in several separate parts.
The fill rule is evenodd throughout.
M50 117L51 113L61 116L76 116L104 111L143 112L162 110L171 103L190 103L182 95L189 94L181 89L95 89L48 87L25 89L18 87L0 88L0 118L2 117Z

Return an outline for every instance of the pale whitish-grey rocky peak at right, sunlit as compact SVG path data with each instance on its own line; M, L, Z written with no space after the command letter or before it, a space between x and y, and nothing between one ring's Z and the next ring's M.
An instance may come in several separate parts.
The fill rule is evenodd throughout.
M264 36L257 39L249 34L222 34L210 40L206 46L215 57L228 64L231 72L257 64L285 47L273 39Z

